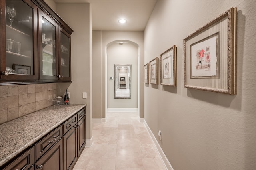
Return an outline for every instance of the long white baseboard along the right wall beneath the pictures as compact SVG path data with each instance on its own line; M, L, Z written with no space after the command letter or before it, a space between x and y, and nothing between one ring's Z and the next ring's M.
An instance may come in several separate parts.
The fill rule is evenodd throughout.
M153 132L150 130L150 128L148 127L148 124L146 123L145 119L143 121L146 129L148 130L148 133L150 134L155 146L156 146L156 149L158 151L158 153L160 154L160 157L162 159L162 162L164 163L164 165L166 166L166 169L167 170L174 170L172 168L172 165L170 164L169 160L167 159L166 155L164 154L164 151L162 150L161 146L159 145L158 141L156 140Z

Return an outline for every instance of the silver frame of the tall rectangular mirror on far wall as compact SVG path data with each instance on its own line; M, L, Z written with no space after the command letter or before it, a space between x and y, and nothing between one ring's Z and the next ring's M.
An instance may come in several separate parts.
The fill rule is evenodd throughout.
M118 73L116 73L116 69L118 69L118 67L121 67L121 66L130 66L130 79L129 79L129 90L130 90L130 94L129 94L129 97L116 97L116 81L119 82L119 78L117 80L116 76ZM118 71L117 71L118 72ZM132 97L132 65L131 64L115 64L114 65L114 99L131 99Z

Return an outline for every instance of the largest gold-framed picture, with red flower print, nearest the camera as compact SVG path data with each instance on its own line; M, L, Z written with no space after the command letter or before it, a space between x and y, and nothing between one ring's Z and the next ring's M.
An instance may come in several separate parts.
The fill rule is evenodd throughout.
M184 38L184 87L236 95L236 10Z

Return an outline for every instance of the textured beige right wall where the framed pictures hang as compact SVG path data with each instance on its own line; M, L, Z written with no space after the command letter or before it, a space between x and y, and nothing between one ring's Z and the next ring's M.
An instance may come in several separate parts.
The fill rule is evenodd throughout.
M237 7L237 95L184 88L183 38ZM144 63L177 45L178 87L144 85L144 119L174 170L255 170L256 1L158 1ZM142 64L142 65L143 65Z

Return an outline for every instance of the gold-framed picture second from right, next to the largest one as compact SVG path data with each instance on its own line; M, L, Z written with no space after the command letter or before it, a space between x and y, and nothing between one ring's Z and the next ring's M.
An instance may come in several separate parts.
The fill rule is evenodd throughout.
M160 55L161 85L177 87L177 47L173 45Z

